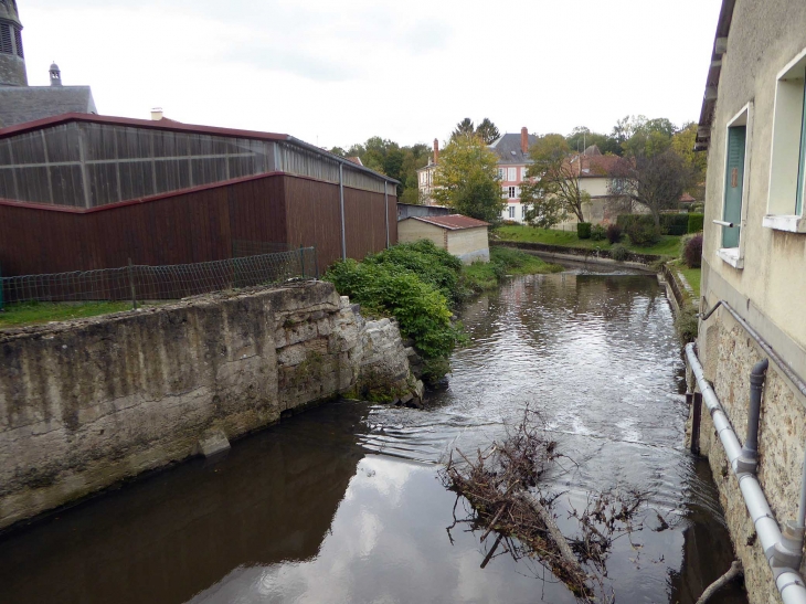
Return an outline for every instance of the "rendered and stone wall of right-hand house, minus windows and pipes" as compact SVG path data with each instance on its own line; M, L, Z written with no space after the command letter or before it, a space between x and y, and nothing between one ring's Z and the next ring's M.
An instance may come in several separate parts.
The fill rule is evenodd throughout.
M800 377L806 375L806 234L763 225L768 213L773 115L778 73L806 47L806 3L799 0L736 2L728 52L722 56L719 96L708 151L702 295L708 307L727 300ZM709 57L703 56L703 68ZM725 139L731 120L750 104L741 263L720 256L725 180ZM792 208L794 210L794 198ZM742 266L743 265L743 266ZM744 439L749 373L763 358L752 338L724 310L700 324L706 375ZM795 517L800 488L806 400L771 362L760 433L760 480L782 523ZM703 414L702 452L709 455L725 518L753 604L780 602L772 574L754 538L735 478ZM802 569L803 571L803 569Z

